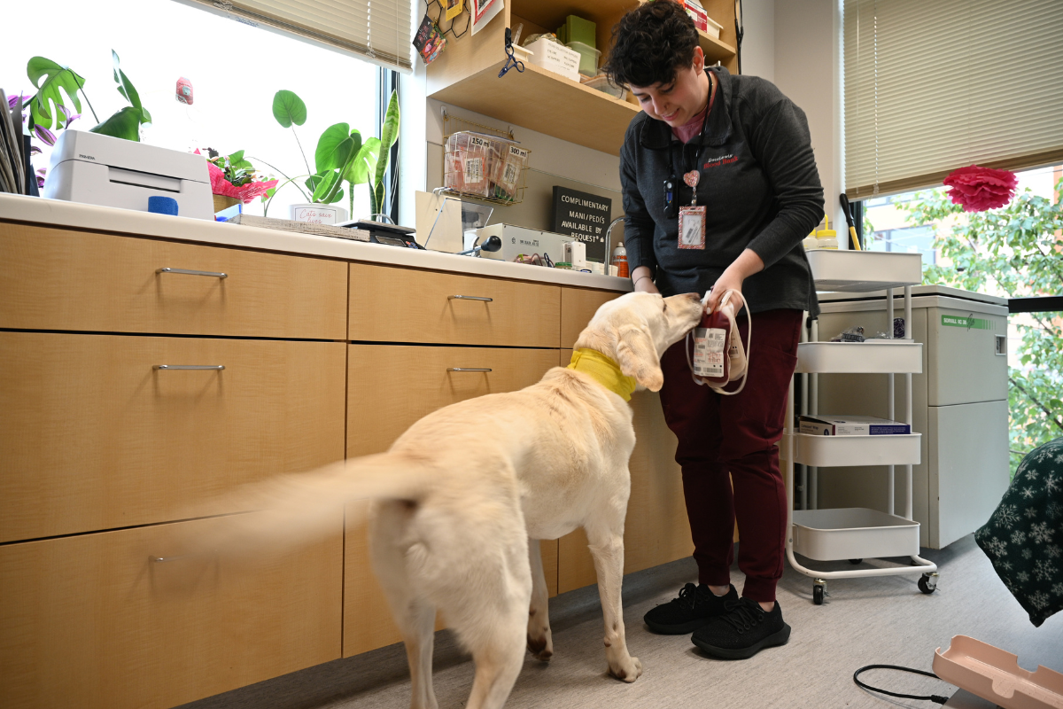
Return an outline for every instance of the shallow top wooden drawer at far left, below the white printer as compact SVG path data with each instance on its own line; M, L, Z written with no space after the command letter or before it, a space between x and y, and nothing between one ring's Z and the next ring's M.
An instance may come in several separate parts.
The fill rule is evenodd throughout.
M0 327L341 340L345 304L342 261L0 223Z

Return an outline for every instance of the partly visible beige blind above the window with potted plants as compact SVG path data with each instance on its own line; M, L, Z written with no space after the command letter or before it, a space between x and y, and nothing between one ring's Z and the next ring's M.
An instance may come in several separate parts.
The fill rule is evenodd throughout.
M179 0L188 2L188 0ZM412 69L410 0L191 0L233 19Z

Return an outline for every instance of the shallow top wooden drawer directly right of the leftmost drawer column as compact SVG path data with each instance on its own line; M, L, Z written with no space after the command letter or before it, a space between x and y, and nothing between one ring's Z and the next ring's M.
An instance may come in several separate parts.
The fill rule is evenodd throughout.
M351 264L350 292L352 340L558 347L559 286Z

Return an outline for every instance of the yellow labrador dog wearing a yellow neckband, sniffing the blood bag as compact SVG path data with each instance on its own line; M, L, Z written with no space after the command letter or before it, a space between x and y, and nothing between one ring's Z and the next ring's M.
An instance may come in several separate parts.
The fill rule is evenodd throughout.
M642 665L627 652L620 597L635 448L626 398L636 387L661 388L661 354L701 317L693 293L610 301L576 341L573 367L554 368L520 391L439 409L388 453L241 491L244 503L268 511L241 516L230 541L313 538L324 533L322 511L374 500L373 564L406 644L410 706L437 706L438 610L476 665L467 707L494 709L517 680L525 640L539 659L553 655L537 540L581 526L597 572L609 672L635 681Z

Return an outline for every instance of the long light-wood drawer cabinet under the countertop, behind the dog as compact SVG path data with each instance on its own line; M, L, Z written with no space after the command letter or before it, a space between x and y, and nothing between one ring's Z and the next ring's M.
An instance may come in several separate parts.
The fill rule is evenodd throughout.
M617 294L0 222L0 706L169 707L398 641L364 504L286 556L187 539L224 534L234 486L537 382ZM628 571L689 551L635 404ZM540 554L551 595L594 583L575 536Z

